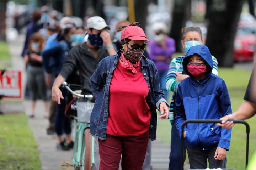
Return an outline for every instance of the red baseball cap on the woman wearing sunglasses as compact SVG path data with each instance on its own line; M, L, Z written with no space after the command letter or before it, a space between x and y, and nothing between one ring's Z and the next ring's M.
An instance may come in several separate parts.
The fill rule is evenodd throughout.
M128 26L125 27L122 32L121 32L121 40L123 39L130 39L130 40L134 40L134 41L149 41L146 38L146 35L143 31L142 28L140 28L139 26Z

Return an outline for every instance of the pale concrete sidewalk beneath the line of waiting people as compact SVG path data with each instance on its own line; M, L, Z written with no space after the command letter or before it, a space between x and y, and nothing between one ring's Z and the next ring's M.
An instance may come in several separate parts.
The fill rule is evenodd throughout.
M25 87L26 72L25 64L21 57L23 49L23 43L25 41L24 35L19 35L15 40L9 40L9 49L12 56L12 67L22 70L22 86ZM16 108L25 111L26 115L30 114L30 102L28 100L22 100L22 104L19 106L3 106L5 109ZM56 137L49 136L46 133L48 126L48 119L43 118L43 103L41 100L37 101L35 118L28 119L29 126L34 134L34 139L38 143L39 159L41 162L42 170L60 170L60 163L62 161L70 161L72 157L72 151L57 151L56 150ZM152 156L151 166L152 170L167 170L169 165L169 153L170 145L161 143L156 140L152 142ZM185 165L185 170L189 169L188 165Z

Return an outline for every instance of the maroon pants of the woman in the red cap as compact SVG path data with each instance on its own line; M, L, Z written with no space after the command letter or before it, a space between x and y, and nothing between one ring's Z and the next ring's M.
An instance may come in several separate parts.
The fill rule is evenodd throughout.
M98 140L100 170L118 170L122 155L122 170L141 170L149 141L149 131L141 136L120 137L107 135Z

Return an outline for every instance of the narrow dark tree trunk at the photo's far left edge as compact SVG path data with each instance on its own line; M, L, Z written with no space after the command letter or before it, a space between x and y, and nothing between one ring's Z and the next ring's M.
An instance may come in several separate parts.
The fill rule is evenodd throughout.
M6 30L6 1L0 1L0 40L5 41L5 30Z

